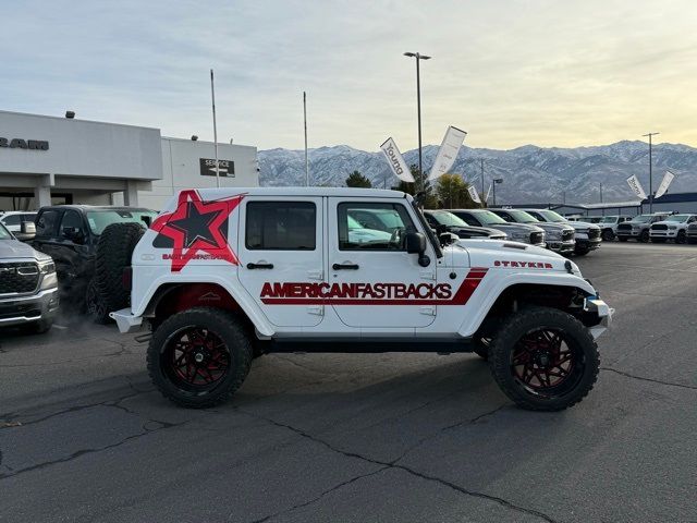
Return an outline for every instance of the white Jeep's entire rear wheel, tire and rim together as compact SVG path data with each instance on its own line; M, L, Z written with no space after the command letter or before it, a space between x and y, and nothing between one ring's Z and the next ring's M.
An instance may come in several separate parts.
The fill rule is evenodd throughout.
M253 348L244 325L212 307L178 313L155 331L148 373L166 398L200 409L221 403L242 386Z

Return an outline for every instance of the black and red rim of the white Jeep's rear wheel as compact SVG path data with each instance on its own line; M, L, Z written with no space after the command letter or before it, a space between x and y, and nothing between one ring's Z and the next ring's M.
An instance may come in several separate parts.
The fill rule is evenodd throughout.
M180 389L209 391L228 376L230 350L216 332L196 326L172 333L160 361L167 377Z

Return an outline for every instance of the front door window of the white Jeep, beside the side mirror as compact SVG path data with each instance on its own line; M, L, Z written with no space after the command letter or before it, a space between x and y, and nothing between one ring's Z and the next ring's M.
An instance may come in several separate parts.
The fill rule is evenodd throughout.
M404 251L406 233L416 231L402 204L345 203L337 211L341 251Z

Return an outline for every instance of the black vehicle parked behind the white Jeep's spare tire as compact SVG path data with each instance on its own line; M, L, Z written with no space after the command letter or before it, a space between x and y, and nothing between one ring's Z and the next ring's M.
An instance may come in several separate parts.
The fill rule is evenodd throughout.
M134 207L41 207L36 216L36 235L29 243L53 258L61 304L87 312L97 321L106 321L109 311L100 300L95 279L99 238L112 223L139 223L145 229L155 216L154 210Z

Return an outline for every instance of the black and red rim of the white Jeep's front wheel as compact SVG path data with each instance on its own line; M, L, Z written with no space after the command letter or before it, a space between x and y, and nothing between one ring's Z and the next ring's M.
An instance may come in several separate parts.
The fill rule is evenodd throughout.
M573 390L584 375L583 350L562 329L538 327L513 348L511 372L528 392L554 398Z

